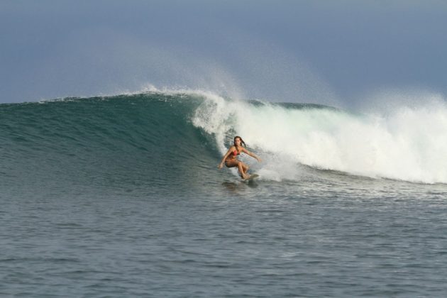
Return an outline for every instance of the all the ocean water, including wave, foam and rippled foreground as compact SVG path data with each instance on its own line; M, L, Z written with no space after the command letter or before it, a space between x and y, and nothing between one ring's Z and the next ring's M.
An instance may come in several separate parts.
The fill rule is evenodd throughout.
M3 297L444 297L447 107L0 105ZM233 136L262 162L217 165Z

